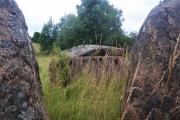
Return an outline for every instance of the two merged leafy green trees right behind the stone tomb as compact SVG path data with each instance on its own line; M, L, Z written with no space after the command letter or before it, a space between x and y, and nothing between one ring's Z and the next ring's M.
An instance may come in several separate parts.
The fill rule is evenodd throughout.
M61 49L80 44L123 45L122 10L107 0L82 0L77 5L77 16L65 15L60 19L60 33L56 45ZM129 40L129 38L128 38Z

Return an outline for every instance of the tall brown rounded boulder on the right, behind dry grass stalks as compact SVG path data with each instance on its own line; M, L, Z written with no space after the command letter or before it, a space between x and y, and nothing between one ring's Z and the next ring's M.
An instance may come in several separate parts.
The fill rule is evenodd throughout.
M132 52L123 120L180 120L179 35L180 0L149 13Z

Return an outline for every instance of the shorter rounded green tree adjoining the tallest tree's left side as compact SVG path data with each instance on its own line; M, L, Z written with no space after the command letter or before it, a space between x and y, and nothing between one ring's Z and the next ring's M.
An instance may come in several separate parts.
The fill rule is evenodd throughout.
M61 32L57 37L56 46L60 46L60 48L64 50L82 44L83 41L78 39L82 31L82 24L78 17L74 14L68 14L61 18L61 20Z

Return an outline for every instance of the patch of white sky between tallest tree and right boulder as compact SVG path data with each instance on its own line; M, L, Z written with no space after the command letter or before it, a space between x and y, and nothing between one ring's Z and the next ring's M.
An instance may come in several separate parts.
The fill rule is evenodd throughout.
M148 13L158 5L159 0L110 0L110 3L122 9L125 18L124 30L138 32Z

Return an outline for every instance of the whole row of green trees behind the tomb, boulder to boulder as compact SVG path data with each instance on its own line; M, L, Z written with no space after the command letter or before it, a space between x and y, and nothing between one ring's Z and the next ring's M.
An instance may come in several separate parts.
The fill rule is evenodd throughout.
M32 41L39 42L47 52L53 45L62 50L82 44L132 46L137 33L125 34L122 10L107 0L81 0L76 9L77 14L64 15L58 23L50 18L41 32L34 33Z

